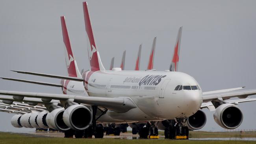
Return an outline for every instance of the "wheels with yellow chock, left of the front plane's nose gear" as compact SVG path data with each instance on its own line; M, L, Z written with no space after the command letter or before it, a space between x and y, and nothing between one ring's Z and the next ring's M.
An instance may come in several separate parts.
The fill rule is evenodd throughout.
M154 122L148 122L146 127L141 127L139 131L140 138L159 138L158 128L155 126Z

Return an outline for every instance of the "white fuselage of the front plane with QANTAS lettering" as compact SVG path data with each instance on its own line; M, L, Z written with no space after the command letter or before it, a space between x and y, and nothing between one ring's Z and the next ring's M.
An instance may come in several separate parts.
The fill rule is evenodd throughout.
M126 113L108 111L108 115L115 120L186 118L196 113L202 104L202 90L174 90L177 85L199 87L193 77L182 72L115 71L114 68L87 71L83 78L89 96L129 97L137 105Z

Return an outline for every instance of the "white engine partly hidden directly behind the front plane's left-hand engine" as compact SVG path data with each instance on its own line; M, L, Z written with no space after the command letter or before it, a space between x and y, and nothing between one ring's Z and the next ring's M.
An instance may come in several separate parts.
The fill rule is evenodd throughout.
M52 112L48 113L46 116L46 123L48 126L59 131L69 130L70 127L68 127L63 121L64 111L64 108L59 108L54 109Z

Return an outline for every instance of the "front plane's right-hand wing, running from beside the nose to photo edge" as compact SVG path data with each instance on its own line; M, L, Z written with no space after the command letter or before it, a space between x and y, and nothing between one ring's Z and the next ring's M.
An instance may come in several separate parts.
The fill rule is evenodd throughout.
M230 92L219 92L213 94L203 94L203 102L210 102L213 100L226 100L229 98L247 98L247 96L255 95L256 89L252 90L237 90L237 91L230 91Z

